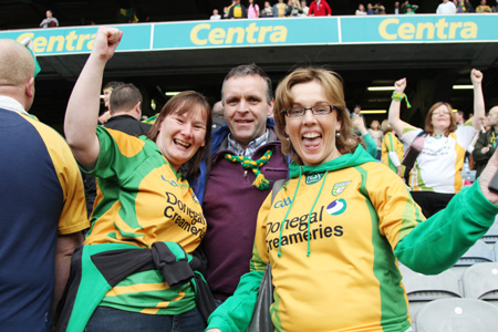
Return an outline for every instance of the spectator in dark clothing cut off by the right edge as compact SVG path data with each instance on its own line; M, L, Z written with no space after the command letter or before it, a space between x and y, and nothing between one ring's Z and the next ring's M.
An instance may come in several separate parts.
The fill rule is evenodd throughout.
M498 106L489 110L487 122L490 128L480 134L473 151L474 162L476 163L476 178L483 173L498 144Z

